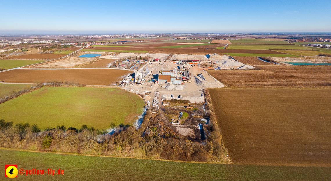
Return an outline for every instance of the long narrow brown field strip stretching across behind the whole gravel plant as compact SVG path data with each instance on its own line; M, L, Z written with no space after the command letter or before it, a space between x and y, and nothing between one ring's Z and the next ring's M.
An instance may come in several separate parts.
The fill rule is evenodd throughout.
M179 44L180 45L180 44ZM272 50L233 50L216 49L206 50L197 48L138 48L138 47L94 47L85 48L89 50L128 50L148 51L148 53L177 53L177 54L209 54L209 53L256 53L256 54L286 54Z

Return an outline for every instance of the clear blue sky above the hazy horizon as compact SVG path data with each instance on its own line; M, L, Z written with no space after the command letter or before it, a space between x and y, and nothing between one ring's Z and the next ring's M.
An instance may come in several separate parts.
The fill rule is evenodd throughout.
M0 33L331 32L330 0L7 0L0 12Z

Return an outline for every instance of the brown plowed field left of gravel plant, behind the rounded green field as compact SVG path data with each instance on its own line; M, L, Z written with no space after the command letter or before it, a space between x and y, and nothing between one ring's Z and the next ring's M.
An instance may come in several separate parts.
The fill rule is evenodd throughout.
M34 83L58 80L78 82L86 85L109 86L126 74L129 70L115 69L67 69L67 70L35 70L15 69L0 72L0 81L11 83Z

